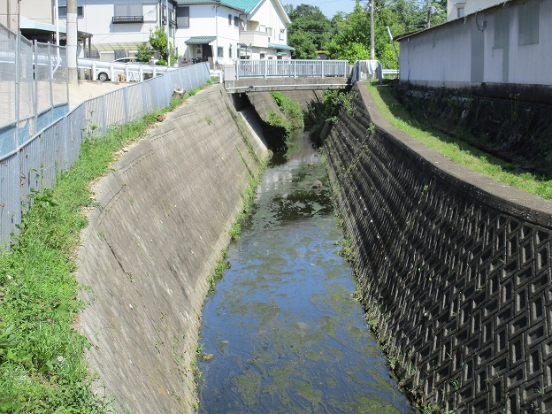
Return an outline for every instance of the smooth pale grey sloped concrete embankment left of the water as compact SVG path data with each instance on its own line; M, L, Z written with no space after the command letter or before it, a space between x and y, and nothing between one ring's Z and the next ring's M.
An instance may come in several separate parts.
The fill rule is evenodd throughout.
M220 86L168 114L96 190L78 279L89 365L121 412L194 412L208 276L266 156ZM103 392L102 389L100 389Z

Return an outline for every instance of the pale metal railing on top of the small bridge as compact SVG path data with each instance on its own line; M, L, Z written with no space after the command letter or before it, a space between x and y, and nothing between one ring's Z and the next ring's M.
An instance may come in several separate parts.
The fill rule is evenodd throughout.
M347 60L240 59L235 61L236 79L284 77L347 77Z

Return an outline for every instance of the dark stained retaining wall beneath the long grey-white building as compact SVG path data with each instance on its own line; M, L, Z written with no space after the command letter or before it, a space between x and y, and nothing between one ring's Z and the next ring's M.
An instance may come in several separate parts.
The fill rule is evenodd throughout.
M488 154L548 175L552 174L549 89L540 88L539 94L537 88L505 84L470 89L395 87L399 102L416 119L431 119L433 127L453 136L462 134L464 142ZM534 102L546 98L548 103Z

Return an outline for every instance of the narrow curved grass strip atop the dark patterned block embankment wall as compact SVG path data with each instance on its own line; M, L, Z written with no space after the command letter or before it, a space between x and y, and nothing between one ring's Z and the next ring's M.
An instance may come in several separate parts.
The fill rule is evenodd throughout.
M415 119L403 109L387 86L368 82L368 89L385 119L419 142L438 150L445 157L472 171L510 184L528 193L552 200L552 179L523 169L472 147L460 139L433 129L426 120Z

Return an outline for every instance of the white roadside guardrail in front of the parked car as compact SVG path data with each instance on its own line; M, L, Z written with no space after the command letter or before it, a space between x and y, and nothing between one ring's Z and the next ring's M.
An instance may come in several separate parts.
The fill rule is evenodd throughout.
M88 71L90 80L119 80L127 82L142 82L149 78L155 78L159 74L178 69L176 67L136 63L126 64L85 58L79 58L78 66L79 69Z

